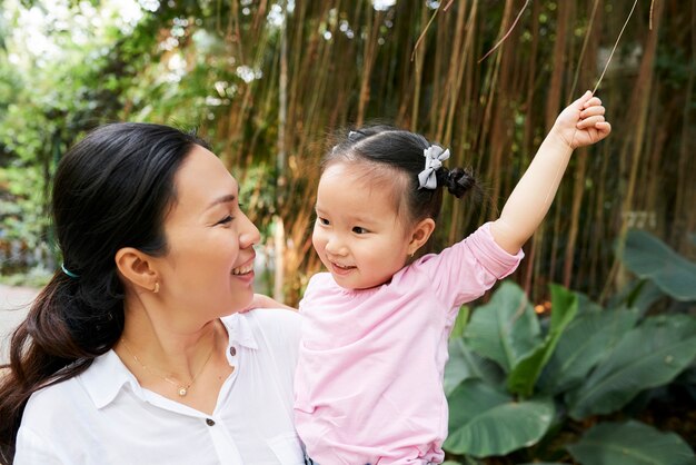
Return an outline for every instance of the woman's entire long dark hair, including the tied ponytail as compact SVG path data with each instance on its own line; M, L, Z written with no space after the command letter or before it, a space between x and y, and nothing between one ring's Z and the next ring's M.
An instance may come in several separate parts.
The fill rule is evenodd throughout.
M58 269L12 334L10 364L0 367L1 463L12 463L29 396L84 372L119 340L123 286L116 253L167 251L163 219L176 201L175 174L196 145L207 147L167 126L113 123L60 160L51 212L64 267L79 277Z

